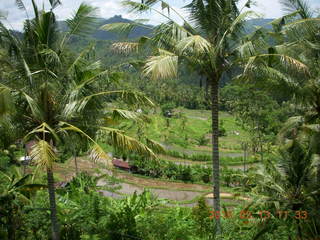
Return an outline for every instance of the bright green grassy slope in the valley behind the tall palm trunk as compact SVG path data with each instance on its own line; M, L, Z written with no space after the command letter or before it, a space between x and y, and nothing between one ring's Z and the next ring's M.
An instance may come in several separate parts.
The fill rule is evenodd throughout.
M166 126L166 119L159 114L151 115L152 122L145 126L145 135L153 140L163 143L170 150L187 151L196 154L211 153L211 113L206 110L188 110L177 109L176 112L182 112L187 117L185 129L183 129L182 118L171 118L170 127ZM226 112L220 113L220 119L226 129L226 136L220 138L221 152L223 153L241 153L241 141L247 139L248 134L236 124L233 116ZM127 128L130 135L137 133L136 126ZM239 135L236 135L238 132ZM198 140L206 135L209 143L205 146L199 146Z

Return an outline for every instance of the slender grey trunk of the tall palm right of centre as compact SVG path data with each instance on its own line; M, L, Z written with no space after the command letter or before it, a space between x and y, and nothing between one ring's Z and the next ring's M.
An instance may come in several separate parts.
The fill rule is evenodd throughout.
M213 209L216 213L216 233L221 234L220 222L220 162L219 162L219 81L213 79L211 85L212 111L212 176Z

